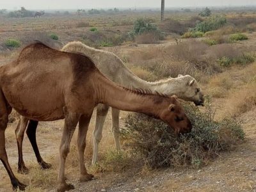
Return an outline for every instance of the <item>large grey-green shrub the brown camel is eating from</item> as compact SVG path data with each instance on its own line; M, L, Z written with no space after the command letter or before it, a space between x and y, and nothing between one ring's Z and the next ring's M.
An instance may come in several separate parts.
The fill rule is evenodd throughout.
M215 111L209 100L206 104L203 113L195 105L184 102L186 115L193 124L188 134L177 138L160 120L135 113L125 120L125 138L144 163L152 168L207 164L221 151L230 150L243 141L244 131L233 119L214 121Z

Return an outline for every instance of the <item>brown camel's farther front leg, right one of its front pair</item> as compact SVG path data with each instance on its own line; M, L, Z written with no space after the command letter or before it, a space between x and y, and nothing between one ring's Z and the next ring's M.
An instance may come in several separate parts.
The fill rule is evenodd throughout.
M88 131L88 125L90 123L92 115L83 115L79 119L79 131L77 138L77 148L79 152L79 166L80 166L80 181L88 181L93 179L93 175L87 173L87 170L84 166L84 149L86 147L86 134Z

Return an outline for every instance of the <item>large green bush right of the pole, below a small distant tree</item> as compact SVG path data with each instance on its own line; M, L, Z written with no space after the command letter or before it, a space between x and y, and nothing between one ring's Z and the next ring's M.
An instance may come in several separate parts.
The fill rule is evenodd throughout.
M227 19L223 16L209 17L208 19L198 23L195 27L195 31L201 31L203 33L221 28L227 24Z

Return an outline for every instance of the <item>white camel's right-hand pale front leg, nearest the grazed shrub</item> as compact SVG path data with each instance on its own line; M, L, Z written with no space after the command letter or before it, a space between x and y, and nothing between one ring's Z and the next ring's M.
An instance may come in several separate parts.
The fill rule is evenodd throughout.
M119 114L120 110L111 108L112 114L112 134L116 144L116 150L121 150L120 146L120 130L119 130Z

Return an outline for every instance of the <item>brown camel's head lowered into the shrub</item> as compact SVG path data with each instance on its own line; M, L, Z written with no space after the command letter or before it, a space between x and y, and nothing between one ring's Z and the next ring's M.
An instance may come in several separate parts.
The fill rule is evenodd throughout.
M163 109L159 117L174 129L175 134L191 132L191 122L175 95L168 98L168 108Z

